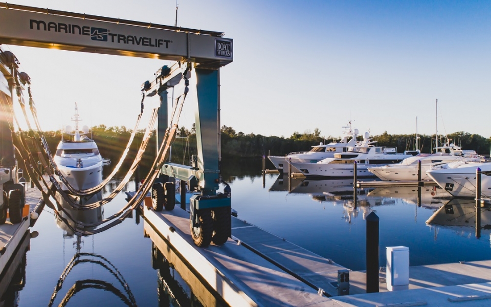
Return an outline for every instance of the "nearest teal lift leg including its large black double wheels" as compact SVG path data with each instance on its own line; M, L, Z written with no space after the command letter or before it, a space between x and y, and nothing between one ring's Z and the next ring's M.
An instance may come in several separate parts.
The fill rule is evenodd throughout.
M230 198L216 194L219 183L220 157L220 89L219 70L195 69L196 141L198 185L202 195L190 200L191 235L197 246L211 242L222 245L231 235Z

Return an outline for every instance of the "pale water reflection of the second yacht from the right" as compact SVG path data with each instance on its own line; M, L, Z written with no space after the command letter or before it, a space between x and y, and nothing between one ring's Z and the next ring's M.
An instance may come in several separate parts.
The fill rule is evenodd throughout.
M420 205L425 208L440 208L448 203L452 196L440 187L379 187L373 189L368 196L374 198L401 199L405 203Z

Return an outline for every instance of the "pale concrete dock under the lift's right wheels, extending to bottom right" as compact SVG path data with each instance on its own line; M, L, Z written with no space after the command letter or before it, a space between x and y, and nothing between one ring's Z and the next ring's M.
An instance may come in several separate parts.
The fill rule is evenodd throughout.
M164 255L169 247L182 255L191 267L188 270L233 306L491 304L491 260L410 267L409 290L394 292L387 291L384 269L380 293L366 293L364 271L349 271L350 295L336 296L338 270L345 268L239 218L232 217L233 239L221 247L198 248L191 238L187 211L140 210L148 223L146 234Z

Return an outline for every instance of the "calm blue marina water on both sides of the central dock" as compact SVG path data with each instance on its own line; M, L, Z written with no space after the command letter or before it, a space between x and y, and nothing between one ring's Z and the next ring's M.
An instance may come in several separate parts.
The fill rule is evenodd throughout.
M477 239L472 201L451 201L441 189L423 188L418 207L414 188L363 189L353 209L350 180L288 182L267 175L263 182L260 168L260 161L224 163L238 217L349 269L365 269L365 217L372 211L380 217L381 266L385 247L399 245L409 247L411 266L491 259L491 231L485 226L491 224L491 212L482 210L487 229ZM104 206L104 216L123 204L125 195L118 195ZM222 304L197 277L182 277L190 275L182 262L169 264L159 252L152 253L143 218L137 221L133 215L77 242L46 208L31 230L39 235L30 240L21 264L25 272L17 272L1 300L19 306ZM73 259L77 251L85 254Z

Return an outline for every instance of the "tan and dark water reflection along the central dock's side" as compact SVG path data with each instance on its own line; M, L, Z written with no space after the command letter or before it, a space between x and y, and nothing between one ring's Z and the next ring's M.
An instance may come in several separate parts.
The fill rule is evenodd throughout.
M159 306L228 306L146 221L143 227L145 236L152 240L152 267L159 278Z

